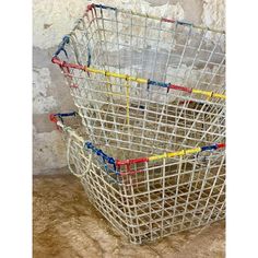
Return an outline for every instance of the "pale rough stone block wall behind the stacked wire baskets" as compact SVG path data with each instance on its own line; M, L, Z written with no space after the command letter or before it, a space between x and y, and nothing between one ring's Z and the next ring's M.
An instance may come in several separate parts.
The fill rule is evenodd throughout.
M223 28L224 0L103 0L97 3L148 12ZM33 142L34 174L52 173L66 166L61 134L48 114L74 109L59 69L50 62L60 39L82 15L85 0L33 1Z

